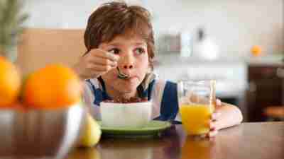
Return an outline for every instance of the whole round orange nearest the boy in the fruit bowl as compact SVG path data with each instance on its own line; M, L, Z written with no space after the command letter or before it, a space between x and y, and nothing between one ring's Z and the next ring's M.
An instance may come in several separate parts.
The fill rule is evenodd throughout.
M23 102L27 107L40 109L69 107L80 102L81 92L80 79L72 69L51 64L28 76Z

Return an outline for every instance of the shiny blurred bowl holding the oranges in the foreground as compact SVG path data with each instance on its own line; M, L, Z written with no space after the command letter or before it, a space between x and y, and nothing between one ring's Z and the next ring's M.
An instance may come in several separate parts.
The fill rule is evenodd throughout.
M0 156L64 158L80 136L81 104L56 110L1 110Z

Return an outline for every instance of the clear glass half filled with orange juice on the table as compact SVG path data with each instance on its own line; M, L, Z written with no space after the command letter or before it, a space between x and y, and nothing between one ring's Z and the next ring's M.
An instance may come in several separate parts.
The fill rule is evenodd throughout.
M209 132L209 120L214 112L215 85L214 80L178 83L179 112L188 135Z

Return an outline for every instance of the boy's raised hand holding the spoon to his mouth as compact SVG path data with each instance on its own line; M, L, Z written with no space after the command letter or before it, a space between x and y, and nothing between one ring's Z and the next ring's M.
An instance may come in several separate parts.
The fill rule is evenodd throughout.
M107 71L116 68L119 56L104 51L92 49L75 64L74 69L82 79L97 78Z

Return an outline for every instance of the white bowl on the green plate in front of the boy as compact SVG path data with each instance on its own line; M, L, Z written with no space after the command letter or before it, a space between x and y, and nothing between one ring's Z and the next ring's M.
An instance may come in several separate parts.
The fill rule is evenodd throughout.
M101 102L102 124L110 127L139 127L151 121L152 102Z

